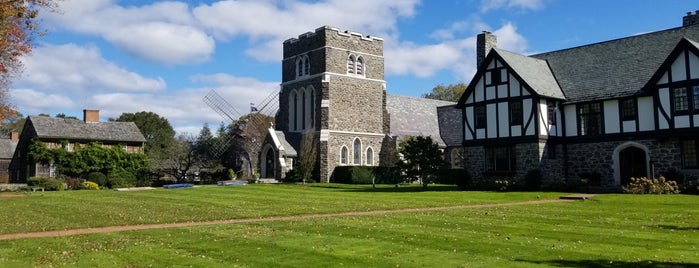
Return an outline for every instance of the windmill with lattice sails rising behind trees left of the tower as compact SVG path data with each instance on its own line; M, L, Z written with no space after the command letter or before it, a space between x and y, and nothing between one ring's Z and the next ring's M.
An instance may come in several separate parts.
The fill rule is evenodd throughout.
M260 151L262 139L264 138L264 136L262 136L264 132L261 130L266 130L269 126L269 122L263 118L274 116L277 113L279 109L279 90L273 91L262 101L258 102L258 106L255 106L254 103L250 103L250 113L246 114L247 116L245 116L245 121L243 122L239 122L239 120L241 117L244 117L244 115L221 97L215 90L212 89L209 91L209 93L204 96L203 101L218 113L226 123L238 128L234 130L234 132L240 133L240 135L237 135L238 138L246 141L244 146L241 146L243 150L239 152L240 156L247 160L247 164L243 164L242 166L249 168L246 171L247 174L252 174L252 171L255 170L254 167L257 165L256 156ZM257 116L258 114L266 116ZM248 135L248 133L252 135ZM224 137L217 139L218 143L211 147L214 156L220 157L228 150L231 144L233 144L236 136L231 134L232 133L226 132Z

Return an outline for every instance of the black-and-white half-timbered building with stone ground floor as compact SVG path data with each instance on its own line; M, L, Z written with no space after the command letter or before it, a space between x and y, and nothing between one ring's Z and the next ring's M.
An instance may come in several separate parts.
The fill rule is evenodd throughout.
M463 112L476 179L584 178L619 189L631 177L699 176L699 14L683 26L537 55L477 38Z

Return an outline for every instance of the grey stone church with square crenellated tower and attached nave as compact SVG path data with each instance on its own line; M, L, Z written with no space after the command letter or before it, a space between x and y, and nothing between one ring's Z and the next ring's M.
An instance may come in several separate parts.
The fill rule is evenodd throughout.
M389 151L406 135L431 136L458 151L455 103L386 94L383 39L325 26L286 40L283 55L279 111L261 147L261 177L283 178L294 168L304 133L315 135L314 176L321 182L337 166L388 164ZM450 130L440 129L440 118Z

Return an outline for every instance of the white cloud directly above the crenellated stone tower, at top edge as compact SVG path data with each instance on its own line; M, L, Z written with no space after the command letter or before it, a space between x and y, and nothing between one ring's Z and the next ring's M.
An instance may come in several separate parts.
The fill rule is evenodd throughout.
M207 31L221 40L248 37L246 54L262 61L281 58L280 44L300 33L329 25L389 38L397 35L399 18L415 14L418 0L345 1L218 1L200 5L193 14ZM260 23L264 18L265 23ZM361 18L361 19L359 19Z

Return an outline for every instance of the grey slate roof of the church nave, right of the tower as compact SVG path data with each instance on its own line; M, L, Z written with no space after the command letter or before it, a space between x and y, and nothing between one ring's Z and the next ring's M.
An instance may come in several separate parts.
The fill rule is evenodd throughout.
M391 136L430 136L440 146L446 143L439 133L437 107L454 102L386 94L386 110L391 119Z

